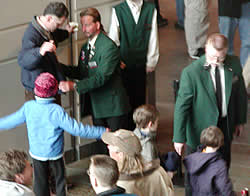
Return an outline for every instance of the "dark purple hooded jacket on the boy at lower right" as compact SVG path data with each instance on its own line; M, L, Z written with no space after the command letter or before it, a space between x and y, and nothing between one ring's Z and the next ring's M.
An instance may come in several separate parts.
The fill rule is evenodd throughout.
M234 196L225 161L218 152L197 151L185 157L193 196Z

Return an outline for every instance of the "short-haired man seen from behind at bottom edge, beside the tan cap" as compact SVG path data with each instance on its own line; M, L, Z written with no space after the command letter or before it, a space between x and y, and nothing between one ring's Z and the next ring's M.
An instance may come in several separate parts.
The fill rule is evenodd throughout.
M92 156L87 174L97 196L136 196L135 194L126 194L124 188L116 185L119 178L118 166L116 161L107 155Z

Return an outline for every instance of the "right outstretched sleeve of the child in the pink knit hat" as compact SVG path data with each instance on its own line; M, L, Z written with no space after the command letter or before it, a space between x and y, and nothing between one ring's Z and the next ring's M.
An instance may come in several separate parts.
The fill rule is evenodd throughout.
M71 135L80 136L89 139L101 139L102 134L106 131L105 127L83 125L78 123L75 119L71 118L67 112L61 108L60 115L53 115L52 118L55 123L58 123L58 127L67 131Z

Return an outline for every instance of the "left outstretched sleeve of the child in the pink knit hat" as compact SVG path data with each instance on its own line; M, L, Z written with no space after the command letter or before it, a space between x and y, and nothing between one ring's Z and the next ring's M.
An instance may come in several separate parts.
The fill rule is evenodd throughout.
M16 112L8 116L0 118L0 131L13 129L17 127L18 125L25 123L25 121L26 121L26 117L24 114L24 106L22 106Z

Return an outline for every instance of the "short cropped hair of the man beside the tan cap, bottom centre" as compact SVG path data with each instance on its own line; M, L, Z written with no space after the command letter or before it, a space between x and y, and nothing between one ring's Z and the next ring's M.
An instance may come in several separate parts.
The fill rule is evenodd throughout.
M119 178L119 170L114 159L107 155L94 155L90 158L90 166L101 185L113 186Z

